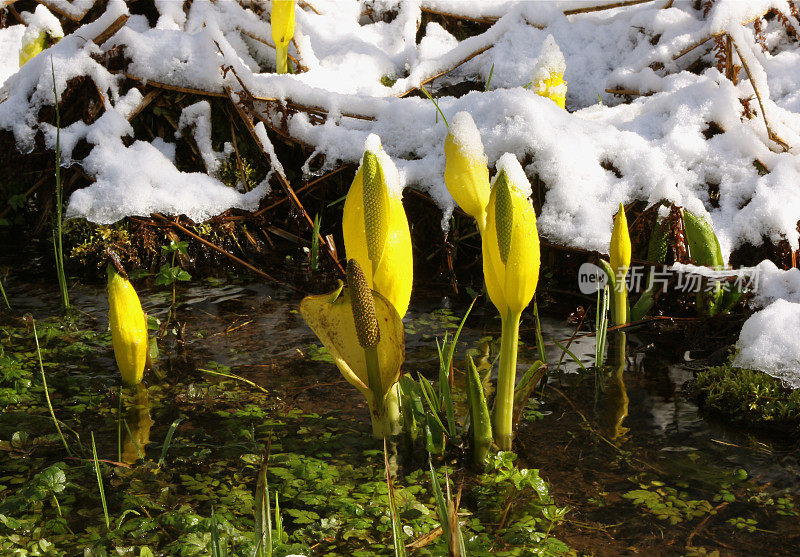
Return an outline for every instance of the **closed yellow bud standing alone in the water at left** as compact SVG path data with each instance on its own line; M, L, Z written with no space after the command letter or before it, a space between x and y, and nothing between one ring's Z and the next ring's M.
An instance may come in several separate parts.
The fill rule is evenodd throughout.
M133 286L114 271L108 278L108 321L122 382L136 385L147 361L147 322Z

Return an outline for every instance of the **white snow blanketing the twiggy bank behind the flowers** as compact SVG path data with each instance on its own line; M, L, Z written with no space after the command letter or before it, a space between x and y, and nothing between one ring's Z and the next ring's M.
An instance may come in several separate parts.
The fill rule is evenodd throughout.
M73 15L93 4L49 3ZM22 36L48 21L55 28L55 18L38 6L35 14L25 16L27 27L0 29L0 129L14 134L22 152L33 149L38 134L53 144L52 126L37 119L39 109L53 103L52 60L59 95L69 79L85 75L106 105L94 123L78 122L62 130L65 164L79 162L70 160L79 141L92 146L80 162L95 183L72 195L72 217L112 222L162 212L202 220L232 207L256 208L268 191L267 180L274 182L275 173L285 176L272 144L270 128L275 126L310 146L305 172L311 160L323 158L323 171L358 164L368 138L379 137L370 139L367 148L379 153L393 194L401 195L406 187L427 192L447 226L454 207L443 178L448 130L436 107L412 94L424 83L462 148L477 152L482 145L489 166L513 171L523 186L538 178L545 198L539 200L537 222L550 242L605 251L619 203L641 200L674 202L702 215L713 224L726 258L743 245L758 246L765 240L786 240L792 249L800 248L800 48L772 18L763 23L764 50L749 23L769 9L788 14L785 0L717 0L706 17L691 2L681 1L667 9L659 1L574 15L564 11L587 3L313 4L319 14L298 3L289 46L304 71L285 75L273 73L269 3L233 0L157 0L155 24L132 15L98 46L94 37L116 18L130 15L125 2L110 0L95 21L79 24L44 55L17 69ZM258 9L251 9L253 5ZM440 23L418 29L428 11L481 20L485 31L459 40ZM789 21L800 29L791 14ZM751 72L742 70L737 85L715 67L712 36L724 33L732 37L737 56ZM256 124L255 135L271 168L267 180L243 193L214 178L230 156L230 146L219 152L211 144L214 130L205 100L183 110L179 127L197 144L207 174L178 170L174 143L133 138L128 118L146 91L142 86L120 90L124 76L100 62L113 48L128 60L126 74L141 83L214 95L229 90L234 98L254 95L254 108L265 119ZM734 62L744 65L738 57ZM709 69L695 69L709 64ZM564 70L569 84L567 110L524 88L531 76L554 69ZM474 83L475 90L459 97L443 93L444 87L465 81ZM607 89L639 94L626 99ZM762 103L753 97L756 90ZM287 109L278 110L275 102ZM745 114L743 102L752 117ZM297 111L297 105L323 118ZM505 153L508 158L500 162ZM516 161L523 161L524 168ZM718 190L718 197L710 197L711 189ZM788 320L785 304L770 308L781 300L800 303L794 290L775 286L784 284L780 281L794 284L796 273L784 275L767 267L759 267L765 276L789 278L770 279L767 283L773 286L756 293L755 301L764 309L748 321L748 334L743 332L740 339L741 353L751 354L749 361L755 363L765 354L759 334L769 333L755 328L766 323L763 312ZM770 289L777 293L768 294ZM764 367L768 363L764 360Z

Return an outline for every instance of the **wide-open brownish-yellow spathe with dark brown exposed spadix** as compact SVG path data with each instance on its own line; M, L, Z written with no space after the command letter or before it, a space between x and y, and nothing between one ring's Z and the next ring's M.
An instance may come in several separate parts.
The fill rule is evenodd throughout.
M389 300L368 288L355 260L347 271L347 289L303 298L300 314L344 378L367 399L375 437L385 437L400 427L394 393L405 359L403 321Z

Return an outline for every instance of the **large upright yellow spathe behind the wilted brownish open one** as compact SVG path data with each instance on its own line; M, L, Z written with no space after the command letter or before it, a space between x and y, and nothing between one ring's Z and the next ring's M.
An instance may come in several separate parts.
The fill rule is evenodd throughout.
M367 284L402 316L408 310L413 281L411 234L403 208L397 168L371 134L342 215L348 259L358 261Z

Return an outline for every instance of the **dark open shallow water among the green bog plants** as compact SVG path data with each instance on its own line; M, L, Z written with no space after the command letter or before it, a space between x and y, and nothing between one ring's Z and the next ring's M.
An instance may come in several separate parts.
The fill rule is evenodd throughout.
M17 314L31 312L41 320L59 313L49 285L12 280L6 290ZM81 326L106 331L104 289L79 285L70 292ZM146 312L166 318L169 292L141 288L140 295ZM368 431L365 405L335 367L320 360L325 355L297 313L298 302L298 296L263 284L207 279L180 288L180 326L162 342L157 369L162 381L189 387L174 400L158 399L147 414L147 419L152 415L145 424L149 435L139 442L163 439L187 401L194 400L195 394L198 402L204 400L207 386L216 378L202 370L214 363L276 393L288 407L335 415L349 428ZM438 370L435 339L441 340L447 331L452 334L465 310L465 305L448 299L415 298L405 319L404 370L434 378ZM456 353L457 367L467 348L485 349L487 342L497 339L499 319L493 314L490 307L478 305L473 310ZM543 316L542 327L545 339L564 341L574 332L557 315ZM522 325L520 370L536 359L533 339L528 318ZM609 337L609 345L613 342ZM581 371L565 356L556 372L561 350L548 342L550 377L546 386L537 389L535 396L541 404L527 413L515 445L523 464L539 468L551 483L558 504L571 508L555 535L578 551L594 554L683 554L694 551L685 549L691 545L752 555L764 544L769 544L769 554L792 554L800 539L797 517L774 512L774 505L765 500L777 498L778 493L795 499L800 494L800 453L795 440L759 437L704 416L684 391L693 376L691 368L670 361L668 354L673 350L660 347L657 338L629 335L624 371L617 358L616 370L595 372L591 336L577 339L570 349L589 371ZM89 357L92 375L80 380L102 398L118 384L110 346ZM70 369L68 362L64 365ZM76 369L84 369L81 373L85 374L85 367ZM70 380L79 378L54 379L55 390ZM146 382L159 383L152 373ZM138 419L136 410L129 412L133 423ZM187 424L184 427L215 427L192 420L191 415ZM115 434L107 430L98 438L113 445ZM128 457L134 454L130 444L126 452ZM670 499L669 489L678 495ZM665 507L683 510L666 515L663 509L646 510L641 499L637 502L631 496L636 490L655 494L651 501L661 501ZM726 501L726 496L734 500ZM687 501L690 507L707 502L715 514L687 515ZM677 522L671 523L670 516ZM740 519L754 520L755 526L748 523L739 528ZM751 526L755 530L750 531Z

